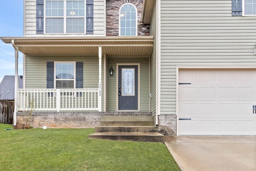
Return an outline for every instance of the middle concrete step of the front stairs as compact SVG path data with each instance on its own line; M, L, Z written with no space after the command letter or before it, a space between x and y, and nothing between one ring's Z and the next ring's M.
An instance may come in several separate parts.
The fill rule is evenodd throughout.
M127 126L127 127L95 127L96 133L158 133L159 127L155 126Z

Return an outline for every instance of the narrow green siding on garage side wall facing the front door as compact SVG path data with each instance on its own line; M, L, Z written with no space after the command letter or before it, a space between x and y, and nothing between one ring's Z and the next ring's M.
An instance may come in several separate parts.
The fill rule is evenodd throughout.
M156 38L156 5L154 6L152 20L150 23L150 36ZM150 56L150 111L156 114L156 39L153 43L153 52Z

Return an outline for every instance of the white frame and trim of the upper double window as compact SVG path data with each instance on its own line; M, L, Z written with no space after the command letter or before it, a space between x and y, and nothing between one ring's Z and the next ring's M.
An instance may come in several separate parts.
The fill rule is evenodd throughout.
M44 0L44 34L86 34L86 0L78 0L78 1L84 1L84 33L67 33L67 18L82 18L82 17L67 17L67 13L66 13L66 8L67 8L67 0L54 0L54 1L64 1L64 16L63 17L52 17L52 16L48 16L46 17L46 1L52 1L52 0ZM63 18L63 33L46 33L46 18Z

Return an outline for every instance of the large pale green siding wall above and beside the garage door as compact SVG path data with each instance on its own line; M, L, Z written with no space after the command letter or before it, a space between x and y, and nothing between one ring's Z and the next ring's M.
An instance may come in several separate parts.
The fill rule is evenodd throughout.
M161 114L176 114L176 66L256 65L255 28L232 0L161 0Z

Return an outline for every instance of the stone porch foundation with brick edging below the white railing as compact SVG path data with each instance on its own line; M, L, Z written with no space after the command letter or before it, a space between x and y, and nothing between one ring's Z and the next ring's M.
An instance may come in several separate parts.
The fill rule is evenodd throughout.
M45 112L34 111L29 124L34 128L46 126L48 128L91 128L100 126L101 116L142 116L152 112ZM17 114L17 125L20 128L20 118L26 116L24 112Z

